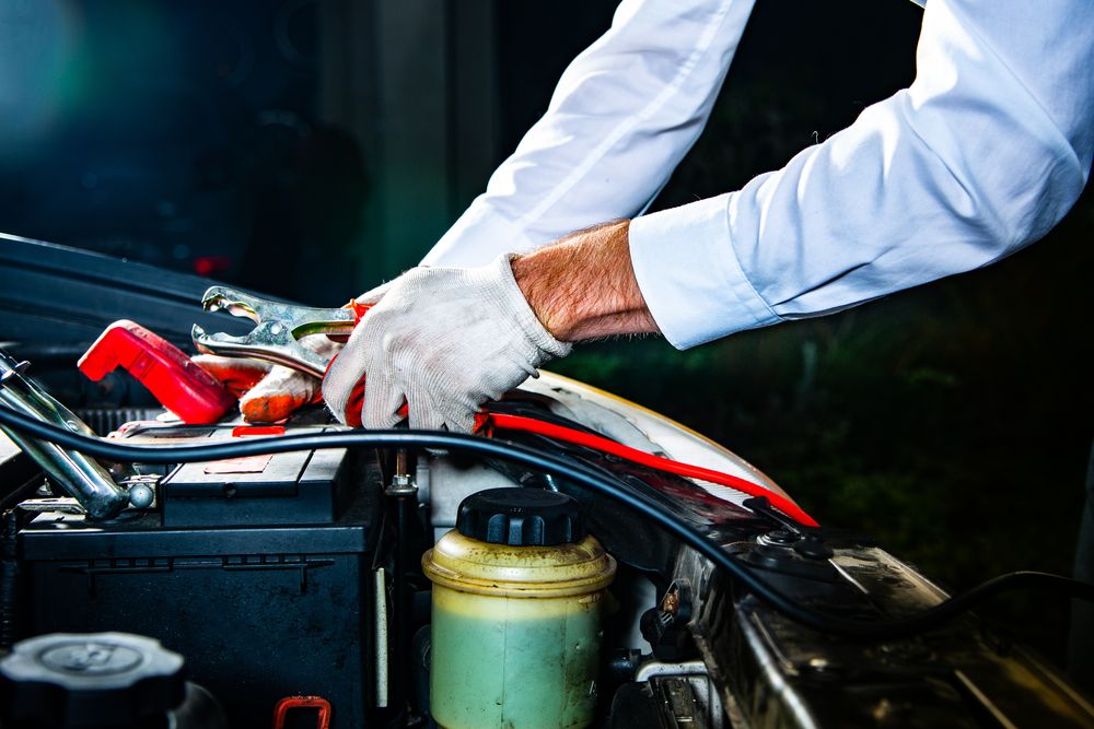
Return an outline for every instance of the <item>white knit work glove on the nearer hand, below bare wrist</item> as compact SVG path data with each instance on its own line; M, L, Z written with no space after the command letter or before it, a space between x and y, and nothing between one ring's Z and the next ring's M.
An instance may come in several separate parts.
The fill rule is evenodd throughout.
M510 256L473 269L421 267L392 282L323 380L327 407L345 422L365 374L365 427L391 427L408 405L410 427L470 432L475 412L569 354L513 279Z

